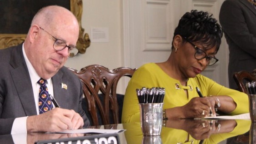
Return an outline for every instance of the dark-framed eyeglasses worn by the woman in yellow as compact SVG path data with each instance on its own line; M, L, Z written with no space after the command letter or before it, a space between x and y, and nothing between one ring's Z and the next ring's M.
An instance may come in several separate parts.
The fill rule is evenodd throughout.
M217 61L219 61L215 56L207 56L206 52L204 50L199 49L195 44L193 44L190 40L188 40L186 37L183 37L187 42L189 42L196 50L195 52L195 59L196 60L202 60L206 58L207 65L214 65Z

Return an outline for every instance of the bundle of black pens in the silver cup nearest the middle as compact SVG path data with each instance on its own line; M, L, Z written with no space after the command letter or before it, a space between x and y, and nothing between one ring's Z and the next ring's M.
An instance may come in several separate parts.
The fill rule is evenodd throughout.
M136 94L139 103L151 104L151 103L162 103L165 96L165 88L146 88L136 89Z

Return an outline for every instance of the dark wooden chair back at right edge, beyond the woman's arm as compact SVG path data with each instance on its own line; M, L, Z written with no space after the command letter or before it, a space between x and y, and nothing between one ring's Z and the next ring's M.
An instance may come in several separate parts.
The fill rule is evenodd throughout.
M256 69L252 72L239 71L233 74L238 90L247 94L246 82L256 81Z

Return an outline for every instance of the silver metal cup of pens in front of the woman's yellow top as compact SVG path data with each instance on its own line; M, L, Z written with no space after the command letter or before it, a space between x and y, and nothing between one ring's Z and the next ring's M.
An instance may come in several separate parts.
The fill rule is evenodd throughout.
M163 121L163 103L139 105L141 111L141 130L143 135L160 135Z

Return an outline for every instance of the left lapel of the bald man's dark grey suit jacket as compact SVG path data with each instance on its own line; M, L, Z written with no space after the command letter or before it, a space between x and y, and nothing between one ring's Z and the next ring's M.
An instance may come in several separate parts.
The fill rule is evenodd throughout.
M22 54L22 45L12 50L10 65L13 67L13 69L10 70L10 74L12 75L12 80L25 114L27 116L36 115L34 93L29 72Z

